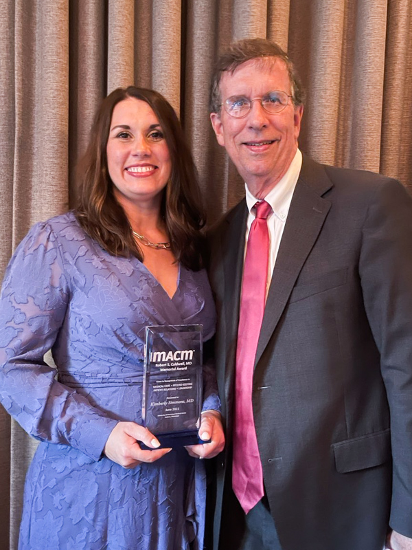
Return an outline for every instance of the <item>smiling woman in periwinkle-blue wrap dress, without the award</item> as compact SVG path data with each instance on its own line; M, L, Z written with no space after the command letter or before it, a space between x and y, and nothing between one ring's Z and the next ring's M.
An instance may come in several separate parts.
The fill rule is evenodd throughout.
M210 367L199 433L211 443L157 448L141 426L145 327L199 323L209 340L215 322L196 170L170 104L113 91L79 180L78 208L34 225L3 281L0 397L41 441L19 549L202 548L205 472L193 457L224 444Z

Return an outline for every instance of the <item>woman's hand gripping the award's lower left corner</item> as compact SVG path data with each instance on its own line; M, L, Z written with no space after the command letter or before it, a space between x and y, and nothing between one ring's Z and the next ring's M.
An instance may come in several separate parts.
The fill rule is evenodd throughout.
M139 426L135 422L119 422L108 436L103 452L108 459L117 462L124 468L134 468L141 462L155 462L172 450L141 450L139 441L153 449L160 445L147 428Z

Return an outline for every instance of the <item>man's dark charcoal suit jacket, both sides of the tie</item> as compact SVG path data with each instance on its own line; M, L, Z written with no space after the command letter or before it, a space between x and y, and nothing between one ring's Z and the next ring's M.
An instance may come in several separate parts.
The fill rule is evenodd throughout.
M209 241L227 425L216 540L246 220L242 201ZM412 537L412 200L397 181L304 157L266 302L253 413L284 550L381 550L388 522Z

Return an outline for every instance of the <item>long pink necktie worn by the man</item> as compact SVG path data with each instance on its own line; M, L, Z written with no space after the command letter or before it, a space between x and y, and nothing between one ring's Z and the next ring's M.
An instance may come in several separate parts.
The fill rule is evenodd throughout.
M247 514L264 495L262 463L252 408L256 348L266 300L270 204L255 204L243 267L242 295L236 349L235 419L233 430L233 492Z

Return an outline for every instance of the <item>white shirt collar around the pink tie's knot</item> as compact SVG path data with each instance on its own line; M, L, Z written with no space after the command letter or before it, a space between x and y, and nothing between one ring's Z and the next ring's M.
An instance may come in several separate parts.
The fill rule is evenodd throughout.
M302 153L297 149L295 157L293 157L293 161L290 163L284 177L282 177L275 187L268 192L266 197L264 197L264 200L271 205L273 212L275 212L276 217L279 218L280 221L286 221L286 217L288 216L290 201L292 200L301 166ZM246 188L247 208L250 213L258 199L253 197L247 184L244 184L244 186Z

